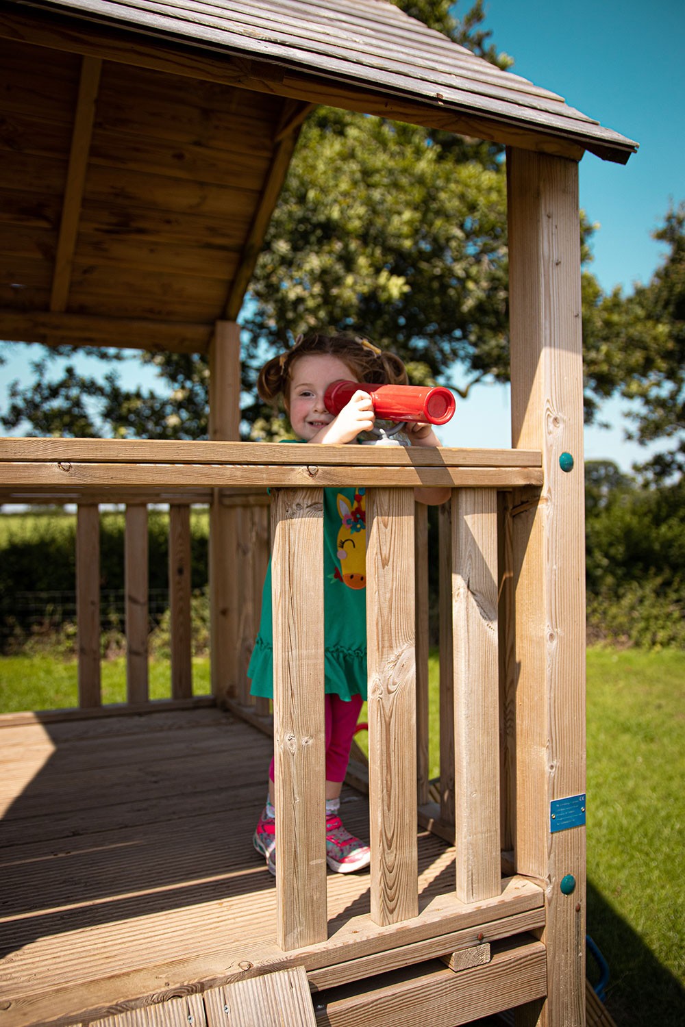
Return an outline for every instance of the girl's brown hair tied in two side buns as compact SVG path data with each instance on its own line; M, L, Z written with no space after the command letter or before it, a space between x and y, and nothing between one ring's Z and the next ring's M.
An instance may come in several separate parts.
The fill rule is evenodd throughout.
M407 369L394 353L378 349L361 336L344 333L298 336L292 349L268 360L259 373L257 391L265 403L283 396L288 407L293 366L300 356L325 353L346 364L358 382L370 385L406 385Z

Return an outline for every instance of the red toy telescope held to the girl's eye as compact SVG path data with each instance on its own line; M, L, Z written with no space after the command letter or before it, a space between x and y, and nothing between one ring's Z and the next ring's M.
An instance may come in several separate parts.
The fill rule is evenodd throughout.
M337 417L357 389L369 393L374 414L387 421L447 424L456 406L449 388L443 385L370 385L341 379L326 390L324 403L329 414Z

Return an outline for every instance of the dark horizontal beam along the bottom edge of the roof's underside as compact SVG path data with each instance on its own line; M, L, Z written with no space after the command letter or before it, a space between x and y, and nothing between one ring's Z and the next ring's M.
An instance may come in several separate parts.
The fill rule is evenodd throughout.
M0 338L7 342L205 353L213 332L214 325L0 308Z

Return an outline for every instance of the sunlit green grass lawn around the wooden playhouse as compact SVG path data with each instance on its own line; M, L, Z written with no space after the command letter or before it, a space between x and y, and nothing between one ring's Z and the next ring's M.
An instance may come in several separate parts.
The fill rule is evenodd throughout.
M123 659L103 662L105 702L123 701L124 676ZM150 682L154 698L169 695L167 661L151 663ZM193 690L210 690L206 659L193 661ZM76 695L74 662L0 658L0 712L76 706ZM684 696L683 652L587 653L587 930L609 963L619 1027L685 1022ZM435 702L430 713L434 775Z

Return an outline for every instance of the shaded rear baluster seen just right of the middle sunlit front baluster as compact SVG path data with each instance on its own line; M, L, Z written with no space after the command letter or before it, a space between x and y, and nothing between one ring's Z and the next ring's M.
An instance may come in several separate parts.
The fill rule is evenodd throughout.
M416 539L416 799L428 801L428 507L414 507Z

